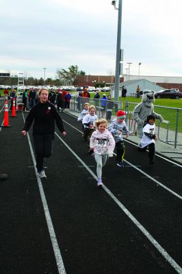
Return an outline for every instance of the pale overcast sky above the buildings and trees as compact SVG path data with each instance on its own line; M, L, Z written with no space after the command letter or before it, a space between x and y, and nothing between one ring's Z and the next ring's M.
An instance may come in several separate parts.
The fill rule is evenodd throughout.
M0 72L55 78L70 65L115 75L118 10L111 0L1 0ZM116 1L116 5L118 1ZM181 76L182 1L122 0L123 73Z

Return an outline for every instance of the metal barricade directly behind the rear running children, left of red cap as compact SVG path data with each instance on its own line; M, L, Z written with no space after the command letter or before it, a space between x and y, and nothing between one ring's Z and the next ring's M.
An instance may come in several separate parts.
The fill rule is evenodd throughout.
M98 118L105 118L107 121L112 120L112 116L116 116L118 110L122 110L122 100L111 101L87 97L72 97L72 99L70 99L70 110L73 112L81 112L84 109L84 103L94 105Z

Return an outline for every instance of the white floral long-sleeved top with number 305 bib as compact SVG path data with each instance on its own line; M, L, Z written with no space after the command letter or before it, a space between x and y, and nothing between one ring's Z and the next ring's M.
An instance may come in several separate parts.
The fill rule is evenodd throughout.
M115 141L108 129L105 129L103 133L96 129L90 138L90 147L94 147L94 153L96 154L112 154Z

